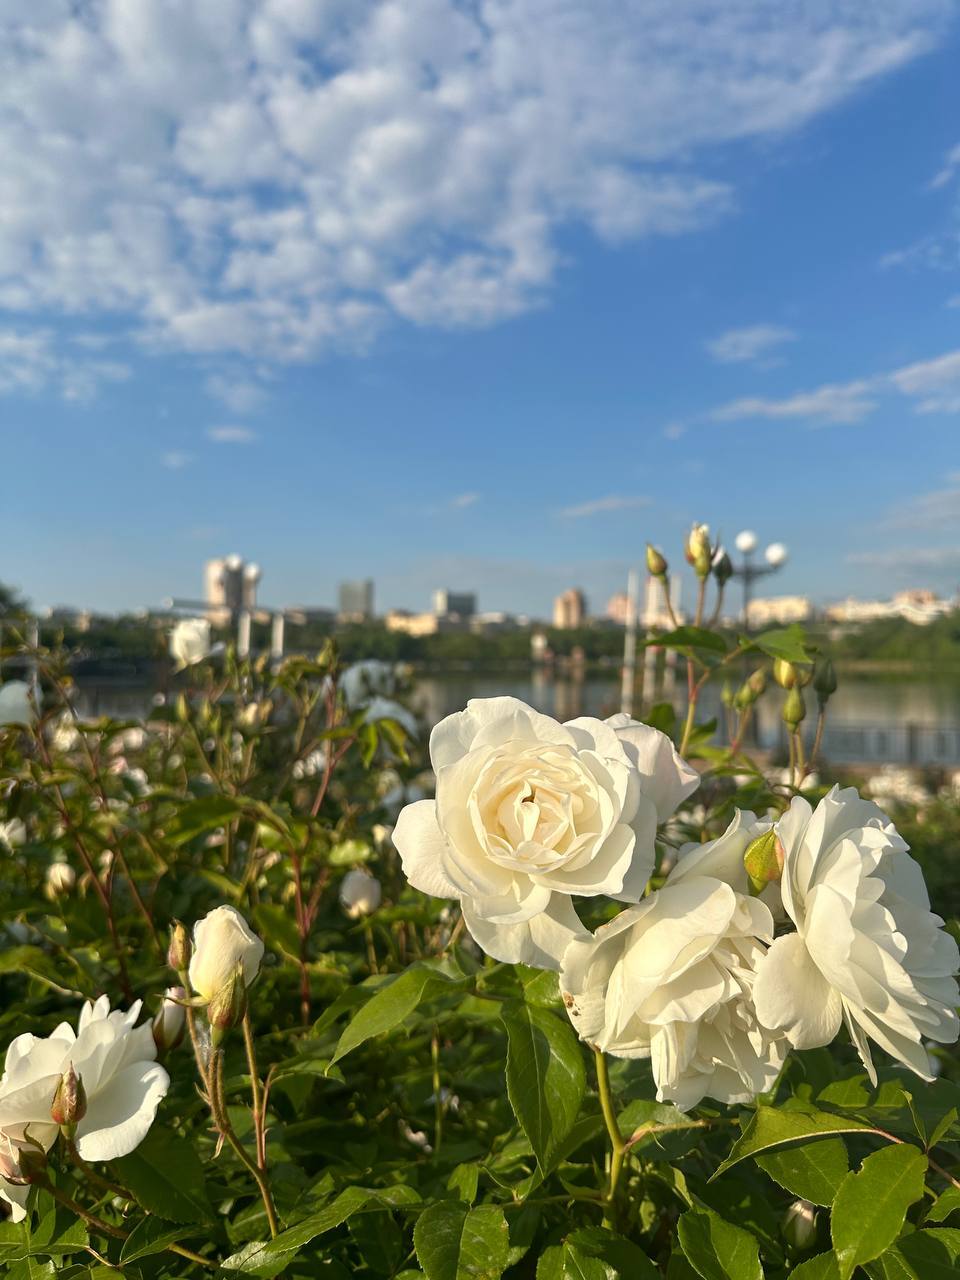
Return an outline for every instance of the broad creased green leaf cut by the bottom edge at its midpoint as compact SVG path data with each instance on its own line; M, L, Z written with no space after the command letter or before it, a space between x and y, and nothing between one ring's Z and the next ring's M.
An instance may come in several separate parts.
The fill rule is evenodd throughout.
M503 1210L440 1201L417 1219L413 1248L428 1280L499 1280L509 1238Z

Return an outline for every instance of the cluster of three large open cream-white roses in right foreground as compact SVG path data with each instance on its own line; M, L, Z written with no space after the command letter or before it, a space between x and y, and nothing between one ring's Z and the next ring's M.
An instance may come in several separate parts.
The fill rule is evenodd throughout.
M870 1041L924 1079L924 1043L956 1041L956 942L855 790L817 809L797 796L777 822L736 810L648 893L657 827L699 781L663 733L494 698L442 721L430 756L436 799L393 836L411 884L458 899L488 955L559 970L580 1037L649 1059L659 1101L748 1102L844 1024L874 1080ZM758 845L759 892L744 864ZM573 899L598 895L628 905L590 933Z

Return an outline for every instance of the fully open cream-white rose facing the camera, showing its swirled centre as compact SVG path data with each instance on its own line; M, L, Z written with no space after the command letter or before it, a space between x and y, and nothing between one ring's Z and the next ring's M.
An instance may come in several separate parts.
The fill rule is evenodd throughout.
M636 901L658 820L699 782L646 724L561 724L516 698L440 721L430 758L436 799L408 804L393 833L407 878L458 897L488 955L550 969L584 932L571 896Z

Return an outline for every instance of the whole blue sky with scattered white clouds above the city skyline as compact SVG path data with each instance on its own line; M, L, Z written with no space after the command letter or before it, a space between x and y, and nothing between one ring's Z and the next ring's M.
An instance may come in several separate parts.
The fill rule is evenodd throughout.
M0 580L594 605L685 527L960 581L940 0L0 0Z

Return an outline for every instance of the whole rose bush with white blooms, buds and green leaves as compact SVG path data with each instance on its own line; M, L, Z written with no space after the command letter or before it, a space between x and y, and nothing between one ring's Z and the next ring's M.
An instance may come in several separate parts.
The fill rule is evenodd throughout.
M829 790L824 655L705 627L728 563L687 550L680 722L485 699L428 755L332 646L184 644L142 722L4 655L40 692L0 726L4 1274L956 1271L951 850Z

